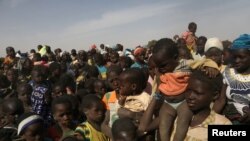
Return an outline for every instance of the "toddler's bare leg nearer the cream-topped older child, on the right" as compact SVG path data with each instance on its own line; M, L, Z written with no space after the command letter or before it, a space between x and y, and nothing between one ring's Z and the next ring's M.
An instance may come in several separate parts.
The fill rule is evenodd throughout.
M174 141L183 141L186 137L189 124L192 120L193 113L188 108L186 101L184 101L177 108L177 126L174 135Z

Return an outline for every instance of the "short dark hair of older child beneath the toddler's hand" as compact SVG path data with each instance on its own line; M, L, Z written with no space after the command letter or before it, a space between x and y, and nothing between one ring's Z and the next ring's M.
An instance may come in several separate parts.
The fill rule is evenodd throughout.
M222 89L223 77L221 73L219 73L216 77L211 78L206 74L205 71L195 70L192 72L189 80L191 79L200 80L202 83L206 83L207 86L209 86L211 90L215 92L220 92Z

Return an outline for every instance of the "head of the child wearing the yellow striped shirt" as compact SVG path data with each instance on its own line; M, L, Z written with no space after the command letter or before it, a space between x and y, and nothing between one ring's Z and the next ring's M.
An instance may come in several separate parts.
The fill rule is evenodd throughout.
M105 116L105 105L96 95L87 95L82 99L81 112L87 121L101 124Z

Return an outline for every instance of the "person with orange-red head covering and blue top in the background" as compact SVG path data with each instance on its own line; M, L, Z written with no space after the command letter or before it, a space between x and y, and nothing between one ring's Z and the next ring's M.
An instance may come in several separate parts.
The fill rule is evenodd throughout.
M131 66L131 68L147 68L148 66L145 63L145 55L146 50L143 47L136 47L134 50L135 63Z

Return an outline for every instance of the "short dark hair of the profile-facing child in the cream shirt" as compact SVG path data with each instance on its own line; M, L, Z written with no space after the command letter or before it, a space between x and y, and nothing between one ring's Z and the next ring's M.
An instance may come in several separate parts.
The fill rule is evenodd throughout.
M147 85L145 73L139 68L129 68L122 72L129 83L135 83L137 86L136 93L141 93Z

